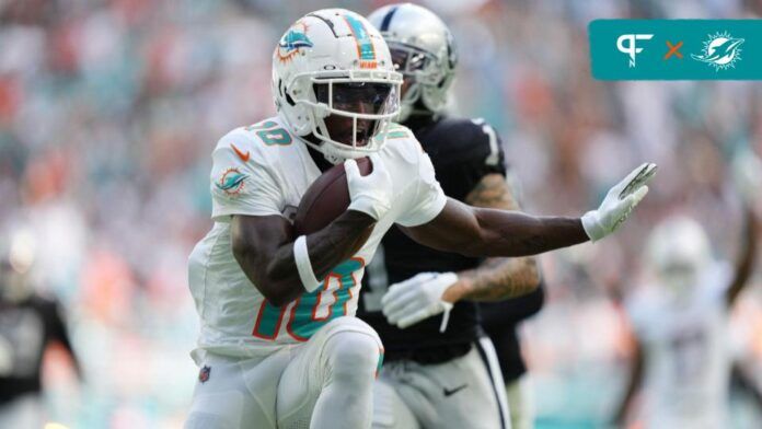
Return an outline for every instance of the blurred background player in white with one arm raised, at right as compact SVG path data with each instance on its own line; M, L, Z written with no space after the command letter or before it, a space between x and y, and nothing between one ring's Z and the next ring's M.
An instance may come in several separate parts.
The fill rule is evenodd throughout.
M762 174L762 164L751 175ZM747 183L749 181L746 181ZM676 216L649 239L647 263L656 287L634 292L625 309L635 331L635 356L614 420L624 422L635 394L644 393L639 415L646 428L725 428L731 356L728 313L749 283L758 246L762 177L744 199L746 229L736 266L713 258L709 240L696 221Z

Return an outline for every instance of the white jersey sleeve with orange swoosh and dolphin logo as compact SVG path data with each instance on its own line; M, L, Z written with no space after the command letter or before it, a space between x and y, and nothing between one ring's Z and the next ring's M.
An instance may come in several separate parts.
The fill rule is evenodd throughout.
M212 153L211 218L227 222L231 215L281 215L282 193L262 154L245 136L231 132Z

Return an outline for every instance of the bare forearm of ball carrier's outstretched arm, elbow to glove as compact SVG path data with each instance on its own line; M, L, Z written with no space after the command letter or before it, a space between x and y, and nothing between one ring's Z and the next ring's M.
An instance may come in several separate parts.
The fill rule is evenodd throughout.
M529 256L590 239L579 218L534 217L518 211L473 208L478 232L464 243L470 256Z

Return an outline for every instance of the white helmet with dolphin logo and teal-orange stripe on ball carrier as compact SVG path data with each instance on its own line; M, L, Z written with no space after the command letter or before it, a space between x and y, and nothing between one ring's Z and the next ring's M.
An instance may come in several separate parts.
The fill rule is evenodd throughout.
M344 9L302 16L273 54L278 114L297 136L321 140L305 142L334 163L383 146L386 127L400 111L401 84L383 37L365 18ZM330 115L351 118L351 139L348 130L331 135ZM358 129L358 120L366 129ZM339 137L347 138L342 142Z

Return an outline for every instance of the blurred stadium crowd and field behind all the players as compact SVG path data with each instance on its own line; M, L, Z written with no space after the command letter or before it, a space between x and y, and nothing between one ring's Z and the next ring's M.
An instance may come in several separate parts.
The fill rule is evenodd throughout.
M197 378L186 258L211 225L211 149L274 113L270 55L296 19L385 3L0 0L0 239L34 237L34 288L61 303L82 370L79 380L65 349L48 350L46 421L182 425ZM728 160L739 148L762 153L762 85L594 81L587 25L759 18L762 1L422 3L460 47L458 112L499 131L528 211L580 215L633 165L660 166L620 233L542 257L546 305L521 332L538 427L605 426L632 355L611 295L638 287L644 241L674 212L700 220L718 257L736 257L742 217ZM758 389L760 282L758 273L730 329ZM749 395L731 396L734 427L760 427Z

